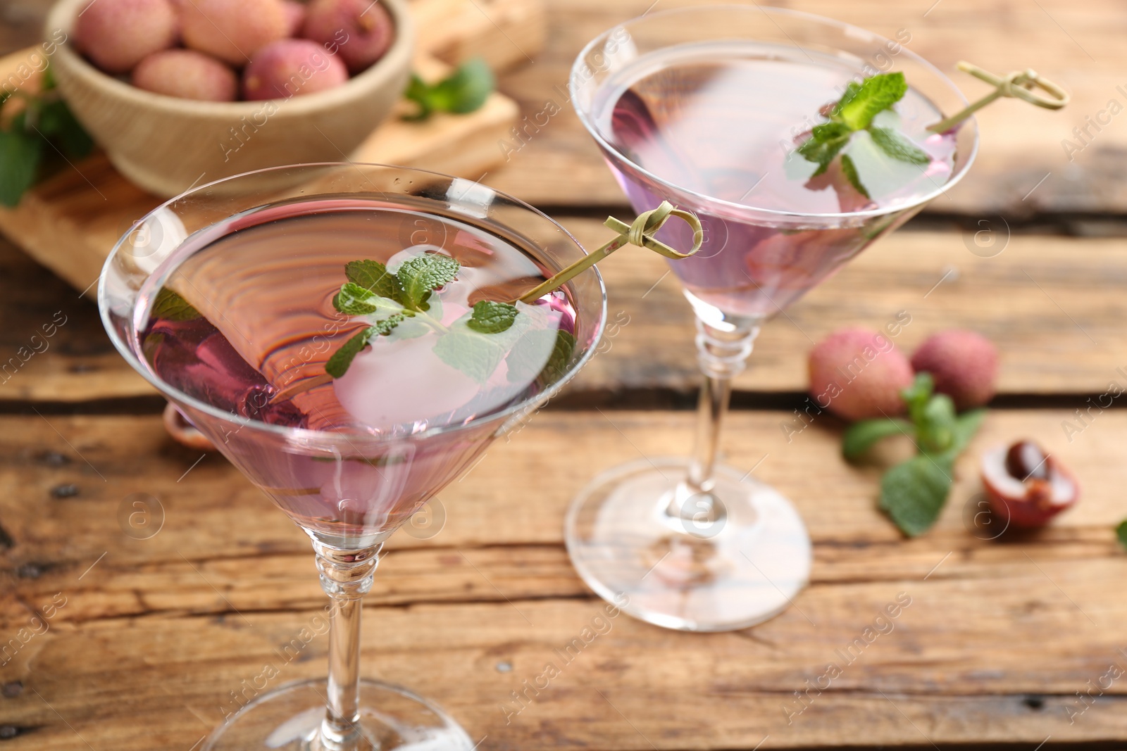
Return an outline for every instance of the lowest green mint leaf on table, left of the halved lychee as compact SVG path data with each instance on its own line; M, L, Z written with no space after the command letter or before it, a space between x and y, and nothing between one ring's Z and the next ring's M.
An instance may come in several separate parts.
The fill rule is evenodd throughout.
M951 461L926 454L897 464L880 481L880 508L905 535L922 535L947 503L951 471Z

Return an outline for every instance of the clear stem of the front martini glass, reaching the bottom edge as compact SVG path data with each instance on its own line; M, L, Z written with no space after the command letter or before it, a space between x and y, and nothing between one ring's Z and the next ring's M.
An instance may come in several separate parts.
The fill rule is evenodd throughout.
M320 745L326 751L374 748L360 727L361 599L372 589L380 545L341 549L313 540L321 589L332 598L329 615L329 682Z

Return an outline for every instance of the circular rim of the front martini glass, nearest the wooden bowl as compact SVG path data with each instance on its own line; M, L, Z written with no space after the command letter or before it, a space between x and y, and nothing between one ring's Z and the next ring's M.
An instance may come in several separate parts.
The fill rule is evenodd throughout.
M338 431L329 431L329 430L314 430L314 429L311 429L311 428L293 428L293 427L286 427L286 426L277 426L277 424L273 424L273 423L269 423L269 422L263 422L261 420L255 420L252 418L243 418L243 417L241 417L239 414L236 414L233 412L227 412L224 410L220 410L220 409L218 409L218 408L215 408L215 406L213 406L213 405L211 405L211 404L208 404L208 403L206 403L204 401L201 401L201 400L198 400L198 399L196 399L194 396L190 396L190 395L184 393L183 391L180 391L179 388L176 388L176 387L171 386L170 384L166 383L165 381L162 381L161 378L159 378L156 374L151 373L150 369L148 367L145 367L144 364L140 360L140 358L134 354L133 348L130 346L130 343L126 342L126 341L123 341L122 338L117 334L117 327L114 325L113 320L110 318L112 316L112 312L109 310L108 298L107 298L107 294L108 293L106 290L107 275L112 272L109 267L114 262L114 260L117 258L117 253L121 250L121 248L125 244L126 239L133 233L133 231L141 223L143 223L147 220L149 220L150 217L152 217L157 212L159 212L161 209L165 209L165 208L169 208L176 202L183 200L184 198L186 198L188 196L192 196L194 194L198 194L202 190L211 188L211 187L213 187L215 185L230 182L232 180L237 180L239 178L250 177L252 175L263 175L263 173L267 173L267 172L278 172L278 171L285 171L285 170L299 170L299 169L308 169L308 168L363 168L363 167L375 167L375 168L380 168L380 169L391 169L391 170L410 171L410 172L417 172L417 173L420 173L420 175L427 175L427 176L433 176L433 177L437 177L437 178L443 178L445 180L463 179L463 178L456 178L456 177L454 177L452 175L446 175L444 172L437 172L435 170L426 170L426 169L419 169L419 168L415 168L415 167L400 167L398 164L381 164L381 163L376 163L376 162L304 162L304 163L300 163L300 164L283 164L283 166L278 166L278 167L267 167L267 168L264 168L264 169L250 170L248 172L240 172L239 175L232 175L232 176L229 176L229 177L225 177L225 178L220 178L218 180L212 180L211 182L206 182L204 185L196 186L194 188L189 188L188 190L185 190L184 193L179 194L178 196L175 196L175 197L169 198L168 200L161 203L159 206L157 206L156 208L149 211L148 213L144 214L144 216L142 216L141 218L139 218L136 221L136 223L134 223L130 227L130 230L127 232L125 232L125 234L123 234L117 240L116 243L114 243L114 248L113 248L113 250L109 251L109 256L106 258L106 262L103 263L101 275L98 277L98 312L99 312L100 318L101 318L103 328L106 330L106 333L109 334L109 339L113 342L114 348L118 351L119 355L122 355L122 357L125 358L125 360L130 364L130 366L134 370L136 370L139 374L141 374L141 377L143 377L145 381L148 381L150 384L152 384L157 388L157 391L160 392L161 395L163 395L166 397L171 397L175 401L183 401L186 404L188 404L189 406L192 406L193 409L199 410L201 412L204 412L205 414L207 414L210 417L218 418L219 420L222 420L224 422L237 424L237 426L240 427L240 429L249 426L250 428L252 428L255 430L261 430L261 431L265 431L265 432L274 433L274 435L281 436L281 437L286 438L286 439L300 439L303 444L308 444L308 445L311 445L311 446L312 445L318 445L318 444L325 444L325 442L336 444L336 442L339 442L341 440L345 441L345 442L348 442L348 444L387 445L387 444L405 442L405 441L410 441L410 440L421 440L424 438L432 438L432 437L435 437L435 436L438 436L438 435L453 433L453 432L458 432L460 430L465 430L465 429L470 429L470 428L477 428L477 427L480 427L483 423L492 422L492 421L499 421L500 424L504 424L513 415L518 414L522 410L527 409L530 404L532 404L534 402L538 402L538 401L544 401L544 402L547 402L548 400L550 400L553 396L556 396L556 394L558 394L559 391L569 381L571 381L571 378L580 369L583 369L583 366L585 366L587 364L587 361L594 356L595 350L597 349L597 342L603 337L603 330L604 330L605 324L606 324L606 284L603 280L603 275L594 266L592 266L588 270L594 271L595 279L598 283L598 289L601 292L601 297L602 297L602 299L601 299L602 310L600 312L598 323L595 325L595 329L593 331L593 343L592 343L591 347L588 347L586 349L586 351L583 352L583 355L579 357L579 359L577 359L575 361L575 364L570 368L568 368L568 370L562 376L560 376L556 382L553 382L544 391L539 392L538 394L535 394L533 396L530 396L530 397L526 397L526 399L522 399L518 402L516 402L515 404L512 404L512 405L505 408L504 410L498 410L496 412L490 412L488 414L478 415L478 417L474 417L474 418L472 418L470 420L467 420L465 422L461 422L461 423L458 423L458 424L449 424L449 426L438 426L438 427L434 427L434 428L427 428L426 430L421 430L421 431L415 432L415 433L407 433L407 435L382 435L382 436L378 436L378 435L363 433L363 432L338 432ZM545 214L544 212L542 212L539 208L536 208L536 207L534 207L534 206L532 206L532 205L530 205L530 204L521 200L520 198L515 198L514 196L511 196L509 194L503 193L500 190L496 190L494 188L489 188L489 190L492 190L495 195L500 196L500 197L505 198L506 200L512 202L513 204L517 205L518 207L523 208L524 211L527 211L527 212L530 212L530 213L532 213L534 215L538 215L541 218L543 218L547 222L549 222L550 224L554 225L556 229L558 229L560 232L562 232L564 235L570 242L575 243L575 247L578 248L578 250L579 250L580 253L583 253L584 256L588 254L587 250L583 247L583 243L580 243L578 241L578 239L576 239L575 235L573 235L559 222L557 222L552 217L548 216L548 214ZM181 241L181 244L183 244L183 241ZM578 318L578 312L577 312L577 318ZM354 448L357 452L360 450L355 446L354 446Z

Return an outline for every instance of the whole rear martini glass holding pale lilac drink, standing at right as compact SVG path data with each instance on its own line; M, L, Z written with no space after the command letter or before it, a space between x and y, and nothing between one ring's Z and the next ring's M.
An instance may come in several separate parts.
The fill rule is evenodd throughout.
M628 596L623 609L638 618L743 628L781 613L809 579L801 518L751 472L718 463L721 424L760 327L951 187L974 159L973 120L925 129L966 100L904 46L909 38L715 6L627 21L575 62L571 100L633 208L669 200L695 213L706 236L694 257L671 261L695 313L704 375L694 452L606 472L567 517L579 574L607 600ZM819 111L850 81L893 70L911 88L878 117L920 144L928 163L880 159L858 136L846 151L872 198L836 166L811 176L816 166L795 149L824 122ZM657 236L685 241L672 225Z

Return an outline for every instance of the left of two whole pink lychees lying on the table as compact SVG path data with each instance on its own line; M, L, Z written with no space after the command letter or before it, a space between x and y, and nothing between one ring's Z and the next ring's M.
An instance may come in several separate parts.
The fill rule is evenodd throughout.
M838 329L813 350L810 396L846 420L893 417L904 411L900 391L912 385L912 366L893 341L868 329Z

